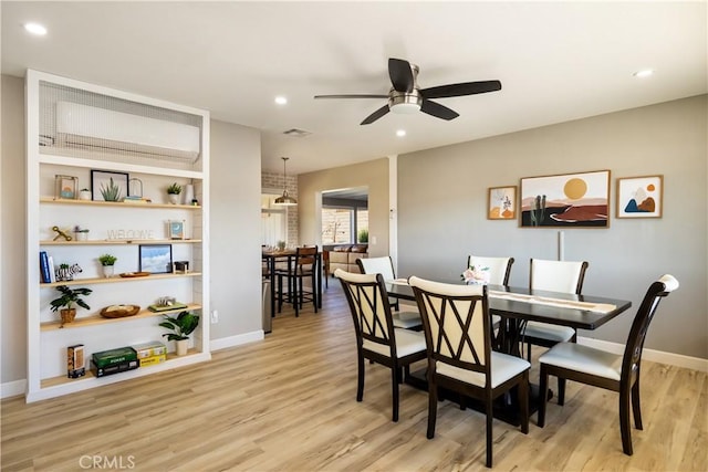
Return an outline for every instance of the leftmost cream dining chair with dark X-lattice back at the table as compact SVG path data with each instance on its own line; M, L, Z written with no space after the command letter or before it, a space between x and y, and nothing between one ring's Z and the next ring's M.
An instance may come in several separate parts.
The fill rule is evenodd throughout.
M394 326L384 279L379 273L334 271L350 305L356 333L356 401L364 399L364 359L391 368L393 421L398 421L398 385L410 374L410 364L426 357L420 332Z

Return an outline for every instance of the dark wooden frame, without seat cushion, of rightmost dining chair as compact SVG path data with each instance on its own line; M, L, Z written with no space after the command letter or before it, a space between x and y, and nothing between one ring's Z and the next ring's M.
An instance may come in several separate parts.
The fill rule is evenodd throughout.
M673 289L671 289L673 290ZM644 339L649 328L649 323L656 313L656 308L663 297L667 296L666 285L660 282L654 282L644 295L642 305L637 310L637 314L632 323L627 344L625 345L622 358L622 373L620 380L606 377L595 376L587 373L581 373L550 364L541 363L541 391L548 389L549 376L555 376L563 382L565 380L574 380L593 387L604 388L606 390L620 392L620 431L622 434L622 450L625 454L632 455L632 428L629 426L629 403L634 413L634 424L638 430L643 429L642 409L639 405L639 370L642 367L642 352L644 349ZM539 408L539 427L545 424L545 407L546 401L541 401Z

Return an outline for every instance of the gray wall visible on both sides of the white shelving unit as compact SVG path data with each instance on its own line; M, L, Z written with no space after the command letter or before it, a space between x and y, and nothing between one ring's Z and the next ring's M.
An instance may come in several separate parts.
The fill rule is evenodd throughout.
M27 377L24 80L2 80L0 382ZM211 122L211 339L261 329L260 133ZM257 294L256 296L253 294ZM208 316L205 319L208 322Z

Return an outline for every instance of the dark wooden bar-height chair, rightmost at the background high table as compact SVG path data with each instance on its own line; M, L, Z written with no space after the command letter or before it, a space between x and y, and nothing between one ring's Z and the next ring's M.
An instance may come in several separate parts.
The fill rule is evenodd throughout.
M292 264L275 271L278 277L278 312L282 310L284 301L293 304L295 316L305 302L312 302L317 313L317 247L301 247L295 249ZM288 281L288 292L283 289L283 279ZM310 279L311 289L306 290L304 280Z

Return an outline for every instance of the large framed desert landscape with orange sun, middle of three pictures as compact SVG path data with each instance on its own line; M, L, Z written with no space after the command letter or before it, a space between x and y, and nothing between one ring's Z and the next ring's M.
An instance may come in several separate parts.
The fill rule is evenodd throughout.
M610 170L521 179L522 228L608 228Z

